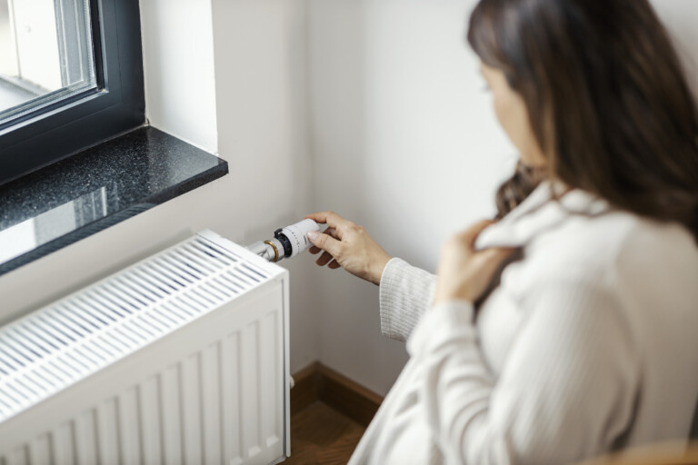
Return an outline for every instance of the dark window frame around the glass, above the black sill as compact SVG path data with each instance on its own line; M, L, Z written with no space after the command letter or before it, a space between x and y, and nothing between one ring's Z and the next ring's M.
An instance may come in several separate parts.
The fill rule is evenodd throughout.
M90 0L97 88L0 132L0 185L145 124L138 0Z

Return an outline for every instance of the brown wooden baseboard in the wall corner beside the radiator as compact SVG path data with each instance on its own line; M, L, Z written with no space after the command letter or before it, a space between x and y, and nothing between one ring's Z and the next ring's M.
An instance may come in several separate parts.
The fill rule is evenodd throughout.
M357 423L368 426L383 397L337 371L314 362L294 374L291 390L291 414L302 411L315 401L323 401Z

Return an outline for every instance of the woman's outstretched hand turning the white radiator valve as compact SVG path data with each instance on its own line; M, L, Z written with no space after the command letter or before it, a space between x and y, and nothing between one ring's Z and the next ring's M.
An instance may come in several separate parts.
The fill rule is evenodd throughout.
M363 226L344 220L333 212L313 213L305 218L329 226L324 233L308 234L308 239L314 244L310 252L324 251L316 261L318 265L327 264L333 270L342 267L354 276L375 285L380 284L390 255L374 241Z

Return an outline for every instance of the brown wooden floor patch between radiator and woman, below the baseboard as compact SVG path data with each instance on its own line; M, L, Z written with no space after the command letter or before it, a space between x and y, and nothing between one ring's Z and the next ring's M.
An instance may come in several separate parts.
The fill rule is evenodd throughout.
M316 401L291 416L291 457L284 465L344 465L365 427Z

